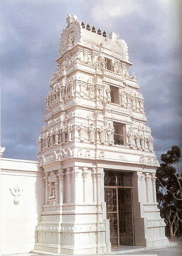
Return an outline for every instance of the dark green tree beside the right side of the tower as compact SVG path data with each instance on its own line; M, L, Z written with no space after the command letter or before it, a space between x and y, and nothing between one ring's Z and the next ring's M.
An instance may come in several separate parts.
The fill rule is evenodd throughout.
M176 145L161 155L160 167L156 171L156 196L162 217L165 219L167 233L176 235L179 221L182 222L182 176L179 171L180 148ZM176 168L177 166L177 173Z

